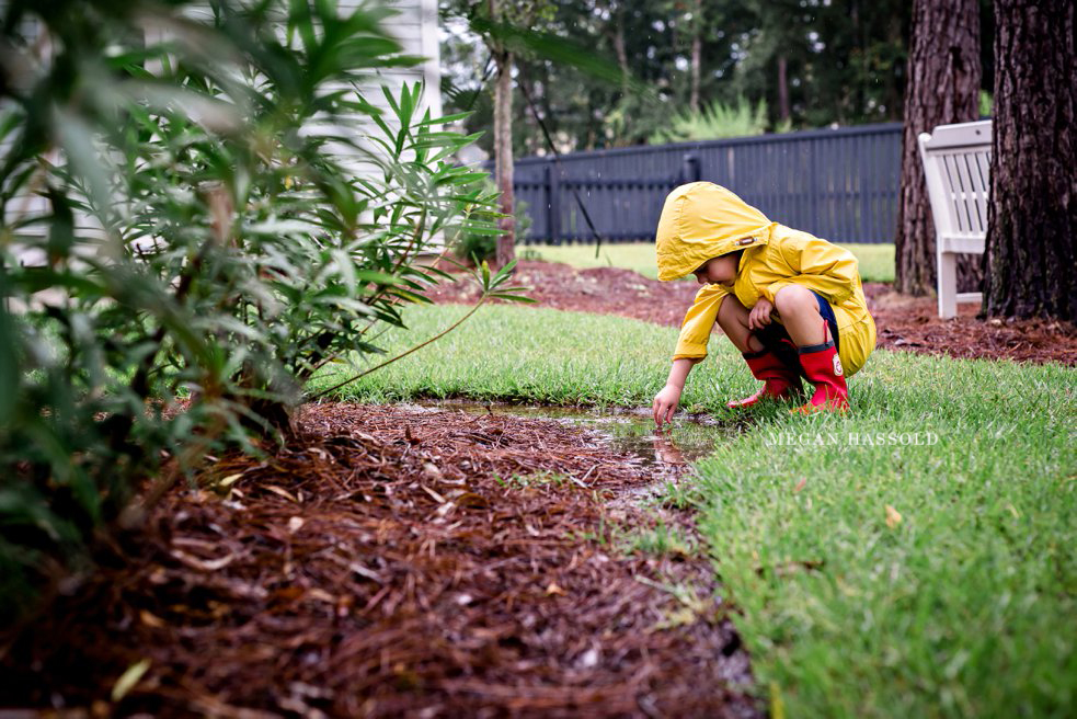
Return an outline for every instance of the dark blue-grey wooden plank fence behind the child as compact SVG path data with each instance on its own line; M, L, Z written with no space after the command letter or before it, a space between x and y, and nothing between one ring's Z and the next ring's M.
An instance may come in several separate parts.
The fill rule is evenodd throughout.
M837 242L892 242L901 179L900 123L629 147L516 162L527 243L653 240L678 184L724 185L770 219Z

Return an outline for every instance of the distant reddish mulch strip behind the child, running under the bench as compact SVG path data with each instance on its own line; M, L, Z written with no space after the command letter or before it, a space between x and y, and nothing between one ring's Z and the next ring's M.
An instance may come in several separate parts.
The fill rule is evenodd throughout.
M657 282L630 270L574 270L555 262L523 261L518 284L540 306L619 315L679 327L699 286L695 282ZM954 357L986 357L1042 364L1077 365L1077 328L1042 320L981 320L977 305L959 305L960 315L941 320L932 297L908 297L890 285L864 285L875 318L877 346ZM479 296L467 281L437 287L439 303L468 303Z

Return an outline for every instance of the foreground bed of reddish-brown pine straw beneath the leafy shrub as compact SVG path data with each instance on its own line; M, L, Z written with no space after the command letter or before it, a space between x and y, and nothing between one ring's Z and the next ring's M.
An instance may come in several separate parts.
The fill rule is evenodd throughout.
M0 706L759 715L709 562L619 553L619 533L653 521L608 504L650 481L639 460L504 415L326 404L300 424L271 458L222 457L167 494L0 654Z

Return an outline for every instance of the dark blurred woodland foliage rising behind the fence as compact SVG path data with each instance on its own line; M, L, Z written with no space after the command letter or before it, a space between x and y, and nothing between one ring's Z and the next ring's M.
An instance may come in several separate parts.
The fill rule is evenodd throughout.
M982 4L989 67L993 18L989 1ZM694 94L700 110L715 101L765 101L771 129L896 122L903 112L909 26L910 3L898 0L560 1L529 30L591 48L616 62L625 81L519 53L516 82L536 101L560 150L645 142L669 117L689 111ZM489 53L449 19L446 27L446 98L450 106L474 107L469 130L488 130ZM633 90L629 79L644 90ZM985 87L992 82L985 70ZM518 94L514 115L516 155L546 151ZM479 141L491 149L489 132Z

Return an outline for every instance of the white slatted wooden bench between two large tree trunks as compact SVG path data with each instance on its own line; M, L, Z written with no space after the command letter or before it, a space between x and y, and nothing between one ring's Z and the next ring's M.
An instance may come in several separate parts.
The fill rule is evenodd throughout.
M935 219L939 317L954 317L958 303L978 303L979 293L959 293L956 254L984 253L990 190L990 121L939 125L919 137L920 159Z

